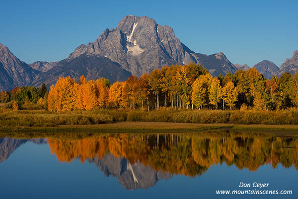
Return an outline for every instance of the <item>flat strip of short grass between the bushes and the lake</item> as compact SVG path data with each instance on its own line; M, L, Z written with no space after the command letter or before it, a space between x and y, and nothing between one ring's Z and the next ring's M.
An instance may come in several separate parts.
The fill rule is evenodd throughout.
M298 133L298 125L281 124L193 124L172 122L116 122L107 124L76 124L52 127L0 127L0 132L23 133L178 133L199 132L203 130L236 130L236 131L288 131Z

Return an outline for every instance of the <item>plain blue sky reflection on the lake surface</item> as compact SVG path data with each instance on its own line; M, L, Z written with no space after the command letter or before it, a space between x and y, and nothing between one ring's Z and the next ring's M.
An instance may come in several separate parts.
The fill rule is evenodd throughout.
M294 149L297 150L297 149ZM0 193L9 198L231 198L216 196L220 189L241 190L239 182L270 183L268 190L293 190L297 198L298 171L280 164L260 166L256 172L239 170L234 165L218 164L196 178L174 175L160 180L147 190L126 190L115 177L107 178L94 164L76 159L59 163L50 153L48 144L26 142L17 148L7 160L0 163ZM253 190L254 188L251 188ZM232 198L262 198L263 196L234 196ZM265 196L263 198L281 198Z

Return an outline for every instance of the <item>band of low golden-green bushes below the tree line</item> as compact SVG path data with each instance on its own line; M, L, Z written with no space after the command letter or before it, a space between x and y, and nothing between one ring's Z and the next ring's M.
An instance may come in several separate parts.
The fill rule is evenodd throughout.
M298 109L255 110L125 110L95 109L51 112L46 110L0 110L0 127L53 127L59 125L103 124L121 121L298 124Z

